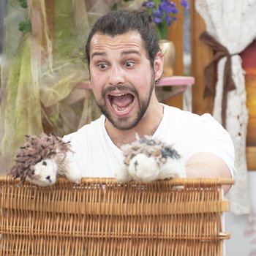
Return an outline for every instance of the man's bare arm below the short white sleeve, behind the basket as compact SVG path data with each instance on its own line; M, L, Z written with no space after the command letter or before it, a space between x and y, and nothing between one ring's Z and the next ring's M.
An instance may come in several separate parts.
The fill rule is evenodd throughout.
M189 157L185 165L187 177L190 178L232 178L225 162L212 153L196 153ZM227 193L230 185L223 186Z

